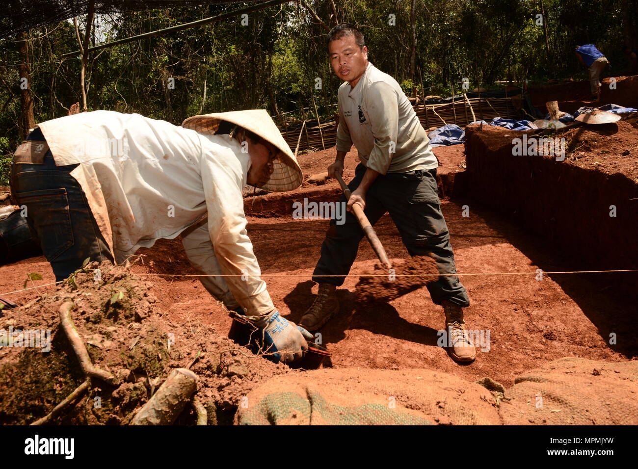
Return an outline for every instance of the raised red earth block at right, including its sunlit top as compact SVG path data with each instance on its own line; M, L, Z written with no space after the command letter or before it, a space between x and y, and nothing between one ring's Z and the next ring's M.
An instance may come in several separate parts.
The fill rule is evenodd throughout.
M634 126L618 121L556 132L553 136L572 140L568 145L572 153L568 150L564 161L553 156L513 156L512 139L522 132L469 126L468 197L544 240L572 267L569 270L637 269ZM609 295L625 298L627 311L635 313L637 273L591 274L591 278Z

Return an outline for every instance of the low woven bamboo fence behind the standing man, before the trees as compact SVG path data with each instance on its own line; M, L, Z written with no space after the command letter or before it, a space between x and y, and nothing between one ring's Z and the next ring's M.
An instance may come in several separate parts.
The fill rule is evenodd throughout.
M446 124L457 124L464 127L467 124L481 119L491 121L494 117L518 119L520 117L520 105L515 105L514 98L467 98L444 104L417 105L414 107L421 125L427 131ZM520 100L520 98L518 97ZM475 115L476 119L473 119ZM334 147L337 141L337 123L325 121L318 124L318 120L307 120L306 125L299 123L286 124L285 128L279 128L281 134L288 142L290 148L299 145L299 151L311 147L326 149Z

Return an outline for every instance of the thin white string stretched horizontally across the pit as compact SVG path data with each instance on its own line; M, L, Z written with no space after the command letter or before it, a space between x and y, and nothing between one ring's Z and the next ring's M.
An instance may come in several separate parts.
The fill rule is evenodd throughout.
M394 277L447 277L447 276L476 276L476 275L551 275L551 274L600 274L606 272L638 272L638 269L618 269L614 271L559 271L559 272L477 272L470 274L392 274ZM312 274L262 274L262 275L204 275L204 274L151 274L151 273L142 273L142 272L134 272L134 275L147 275L147 276L157 276L157 277L294 277L294 278L307 278L307 277L389 277L389 274L346 274L346 275L312 275ZM41 287L50 287L50 285L57 285L58 283L62 283L62 281L54 282L54 283L45 283L44 285L38 285L36 287L23 288L22 290L15 290L14 292L6 292L0 294L0 296L11 295L14 293L26 292L27 290L33 290L34 288Z

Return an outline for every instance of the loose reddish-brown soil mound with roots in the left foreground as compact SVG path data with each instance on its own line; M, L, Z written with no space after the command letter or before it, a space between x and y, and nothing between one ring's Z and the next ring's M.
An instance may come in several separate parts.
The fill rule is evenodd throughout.
M174 368L198 376L195 396L209 424L230 424L235 410L258 382L290 369L253 355L211 325L175 324L149 293L151 283L127 267L91 263L71 274L55 292L4 311L0 330L0 424L29 424L49 413L85 381L75 351L59 327L59 306L72 301L71 320L93 365L115 376L92 378L77 405L52 423L128 424ZM50 350L22 346L26 331L48 331ZM17 332L19 331L19 332ZM195 423L191 405L178 421Z

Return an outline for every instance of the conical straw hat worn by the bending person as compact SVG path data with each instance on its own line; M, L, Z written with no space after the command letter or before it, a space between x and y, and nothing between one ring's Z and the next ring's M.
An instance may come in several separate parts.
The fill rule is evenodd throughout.
M303 175L297 159L284 140L271 116L265 109L215 112L213 114L194 115L182 122L182 127L200 133L214 134L221 121L227 121L249 130L267 140L279 149L274 161L270 179L261 186L267 191L292 191L303 181Z

